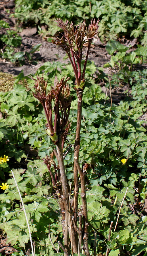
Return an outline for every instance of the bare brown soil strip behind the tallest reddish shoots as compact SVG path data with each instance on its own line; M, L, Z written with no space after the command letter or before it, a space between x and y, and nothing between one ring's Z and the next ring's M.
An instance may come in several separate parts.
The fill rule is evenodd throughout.
M22 70L24 70L24 75L27 76L34 74L46 61L60 61L62 63L68 63L68 59L65 59L66 53L62 48L45 41L39 35L23 36L22 44L20 48L16 49L16 51L29 52L32 47L37 44L42 44L39 50L33 54L32 62L36 61L37 65L29 63L26 59L25 65L20 67L10 63L10 61L0 59L0 71L18 75ZM110 57L104 47L93 46L93 48L91 48L89 60L94 61L98 67L102 67L104 63L109 61L109 59Z

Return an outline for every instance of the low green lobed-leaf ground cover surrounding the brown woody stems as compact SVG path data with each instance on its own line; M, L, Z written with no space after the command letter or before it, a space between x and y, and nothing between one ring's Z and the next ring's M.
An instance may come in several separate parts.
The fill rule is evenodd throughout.
M132 8L143 5L143 2L138 1L131 3L134 3ZM45 6L46 2L43 4ZM81 2L80 5L82 6ZM104 66L111 71L110 82L104 70L89 61L83 95L79 159L80 165L85 162L90 165L86 174L89 248L91 255L105 255L106 248L109 248L110 256L135 256L139 253L146 256L147 217L144 210L147 195L147 136L146 124L141 117L146 112L147 72L146 69L135 69L137 63L146 59L145 48L139 45L137 50L126 53L128 48L110 40L106 49L112 55L110 62ZM68 81L73 94L69 117L71 127L65 146L72 144L72 148L66 155L64 164L69 184L73 184L73 145L77 115L74 72L70 63L65 65L60 62L47 62L38 69L33 78L36 79L36 75L43 73L44 78L48 79L49 88L54 83L55 75L58 80L63 76L71 78ZM99 86L102 80L108 88L110 83L112 88L129 85L128 90L123 93L124 100L119 104L111 102L111 97L106 96ZM0 177L1 182L9 185L9 189L1 190L0 194L0 228L3 236L7 237L7 243L10 242L17 250L11 255L26 255L30 248L29 232L10 172L13 169L35 241L35 255L61 256L64 253L62 249L59 252L54 249L54 246L58 248L58 241L63 242L60 208L51 177L42 160L46 154L53 155L55 146L45 132L46 118L41 104L32 96L33 86L33 80L30 76L25 77L22 71L16 77L13 90L0 92L3 114L0 119ZM121 161L123 159L125 162ZM114 232L119 207L127 187L129 189ZM79 196L79 208L81 204ZM114 224L109 240L111 221ZM7 255L4 251L1 253Z

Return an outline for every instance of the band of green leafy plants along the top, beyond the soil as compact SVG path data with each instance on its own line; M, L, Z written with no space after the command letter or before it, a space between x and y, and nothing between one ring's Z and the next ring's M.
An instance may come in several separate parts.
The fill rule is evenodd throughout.
M140 38L146 44L146 11L147 1L37 1L16 0L14 17L19 22L41 24L48 26L46 34L54 36L58 28L54 25L54 18L74 20L78 25L83 19L102 19L100 25L100 39L116 39L119 36L129 35Z

